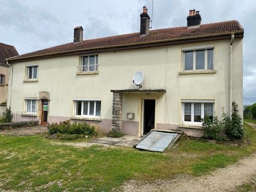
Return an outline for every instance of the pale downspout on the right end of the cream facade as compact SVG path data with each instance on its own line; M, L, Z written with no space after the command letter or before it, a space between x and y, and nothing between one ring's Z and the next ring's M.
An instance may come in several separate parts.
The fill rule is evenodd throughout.
M231 39L230 39L230 47L229 47L229 116L231 118L232 115L232 90L233 90L233 85L232 85L232 79L233 79L233 42L235 39L234 33L231 34Z

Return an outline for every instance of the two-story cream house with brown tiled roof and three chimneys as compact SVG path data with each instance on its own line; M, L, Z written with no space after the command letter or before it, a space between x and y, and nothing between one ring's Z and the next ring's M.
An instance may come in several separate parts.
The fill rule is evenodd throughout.
M74 42L7 59L12 111L130 135L153 128L202 135L201 118L230 113L233 100L242 115L238 21L201 24L199 11L190 11L185 27L149 30L146 7L140 17L140 33L83 40L76 27ZM142 89L132 81L137 71Z

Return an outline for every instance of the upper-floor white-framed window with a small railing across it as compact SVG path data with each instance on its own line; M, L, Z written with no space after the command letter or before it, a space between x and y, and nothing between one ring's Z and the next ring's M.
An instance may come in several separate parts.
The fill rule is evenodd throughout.
M98 71L98 54L82 57L81 66L78 66L78 72L86 71Z

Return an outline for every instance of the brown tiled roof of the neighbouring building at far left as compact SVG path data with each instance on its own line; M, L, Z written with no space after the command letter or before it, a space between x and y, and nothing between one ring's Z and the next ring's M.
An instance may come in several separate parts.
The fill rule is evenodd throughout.
M19 53L14 46L0 43L0 65L8 66L4 60L16 55L19 55Z

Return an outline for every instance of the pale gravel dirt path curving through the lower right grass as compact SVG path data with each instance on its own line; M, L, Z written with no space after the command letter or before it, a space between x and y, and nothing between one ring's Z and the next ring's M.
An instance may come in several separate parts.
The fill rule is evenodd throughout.
M247 123L256 129L256 124ZM138 183L131 180L122 186L123 191L235 191L236 188L256 175L256 154L241 159L211 175L193 178L178 176L172 180L158 180L154 183Z

